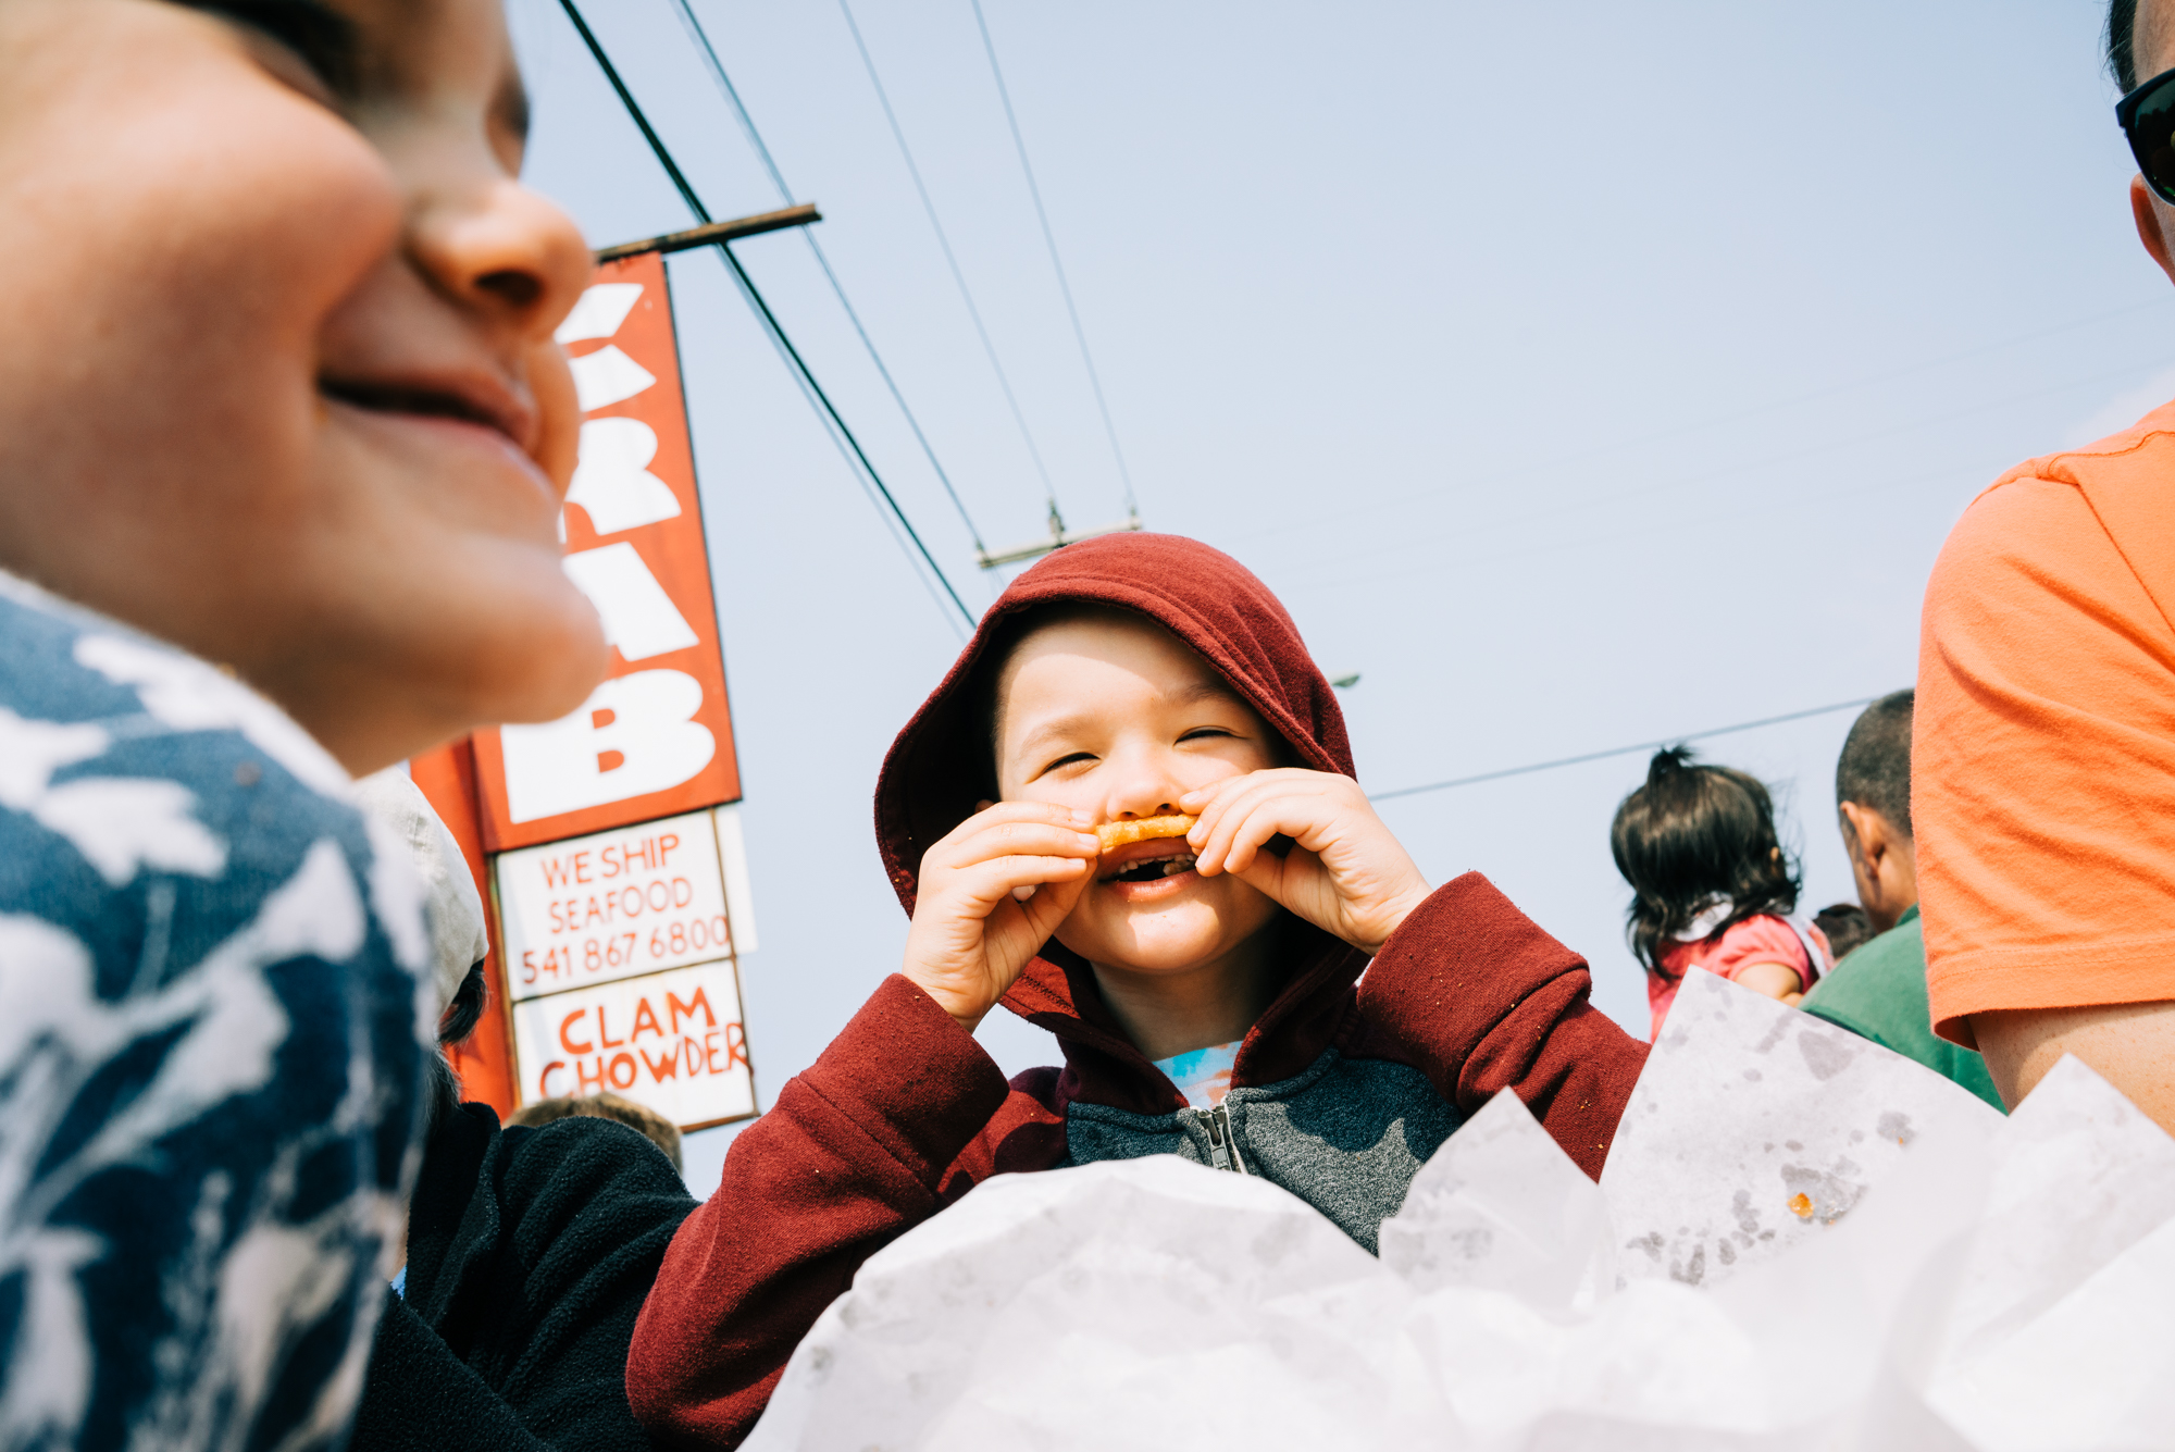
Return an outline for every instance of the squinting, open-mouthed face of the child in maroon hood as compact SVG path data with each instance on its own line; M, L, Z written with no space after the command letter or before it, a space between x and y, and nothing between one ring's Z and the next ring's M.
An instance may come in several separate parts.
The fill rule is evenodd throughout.
M1279 741L1229 683L1164 628L1096 611L1033 630L998 676L996 763L1007 802L1096 822L1177 813L1179 798L1277 765ZM1103 854L1057 941L1090 963L1177 974L1262 932L1277 904L1192 872L1183 837Z

